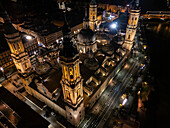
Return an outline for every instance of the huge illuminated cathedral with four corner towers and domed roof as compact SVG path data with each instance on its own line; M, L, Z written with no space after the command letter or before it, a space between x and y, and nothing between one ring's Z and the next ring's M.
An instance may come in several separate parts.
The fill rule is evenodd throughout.
M76 35L76 46L64 11L63 47L55 58L56 62L59 60L59 68L49 68L42 74L32 68L20 32L7 17L5 37L25 90L72 125L78 126L84 119L85 108L93 107L126 62L133 47L139 11L137 7L130 11L125 39L119 33L114 44L111 41L113 36L105 32L102 25L97 30L97 3L91 0L89 17L86 9L83 28ZM49 65L43 61L39 64Z

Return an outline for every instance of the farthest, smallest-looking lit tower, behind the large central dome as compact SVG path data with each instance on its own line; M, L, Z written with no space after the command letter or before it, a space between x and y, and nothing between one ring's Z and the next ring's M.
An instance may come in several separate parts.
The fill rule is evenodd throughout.
M95 0L92 0L89 5L89 26L91 30L96 29L97 23L97 3Z

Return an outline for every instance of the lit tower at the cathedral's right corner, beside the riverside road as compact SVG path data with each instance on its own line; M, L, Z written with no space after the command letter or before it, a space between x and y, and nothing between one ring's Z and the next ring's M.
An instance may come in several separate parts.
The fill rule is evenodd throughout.
M133 46L139 15L140 15L139 0L136 0L133 9L130 11L128 25L126 28L125 42L123 44L123 47L125 47L128 50L131 50Z

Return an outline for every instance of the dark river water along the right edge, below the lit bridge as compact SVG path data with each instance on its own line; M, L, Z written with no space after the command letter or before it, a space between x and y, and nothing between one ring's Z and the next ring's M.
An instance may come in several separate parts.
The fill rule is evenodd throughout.
M170 24L148 22L145 32L155 91L149 96L144 128L165 128L170 122Z

